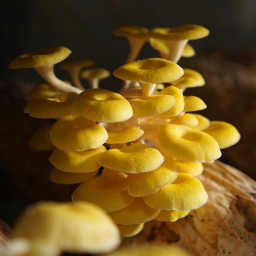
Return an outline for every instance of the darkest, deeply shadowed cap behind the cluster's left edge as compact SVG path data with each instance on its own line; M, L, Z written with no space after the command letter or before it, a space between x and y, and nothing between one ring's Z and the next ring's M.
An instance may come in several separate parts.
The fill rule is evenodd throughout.
M52 150L54 148L54 145L52 144L50 139L51 129L51 124L47 124L44 127L37 129L28 142L29 146L33 148L33 150L37 151Z

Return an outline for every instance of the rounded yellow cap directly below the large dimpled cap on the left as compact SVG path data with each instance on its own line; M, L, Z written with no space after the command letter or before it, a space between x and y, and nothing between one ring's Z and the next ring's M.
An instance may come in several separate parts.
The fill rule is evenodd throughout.
M108 139L105 128L82 116L66 116L55 122L50 131L52 143L63 151L86 151L98 148Z

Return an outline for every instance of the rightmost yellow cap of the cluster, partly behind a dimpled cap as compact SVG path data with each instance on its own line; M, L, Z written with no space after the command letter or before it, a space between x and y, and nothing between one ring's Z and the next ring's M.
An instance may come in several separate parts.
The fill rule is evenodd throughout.
M212 136L219 144L220 148L232 146L241 138L236 127L223 121L211 121L210 126L203 132Z

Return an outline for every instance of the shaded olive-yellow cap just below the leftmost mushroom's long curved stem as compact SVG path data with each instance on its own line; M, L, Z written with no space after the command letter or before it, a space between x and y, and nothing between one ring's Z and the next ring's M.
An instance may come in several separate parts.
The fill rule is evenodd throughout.
M73 112L77 94L61 93L55 98L35 98L28 102L24 113L36 118L61 118Z

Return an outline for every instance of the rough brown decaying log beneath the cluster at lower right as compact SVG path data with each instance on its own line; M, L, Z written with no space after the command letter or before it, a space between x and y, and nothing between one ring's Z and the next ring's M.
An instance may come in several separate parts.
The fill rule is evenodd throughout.
M219 161L204 166L205 206L177 222L148 222L122 246L175 243L199 256L256 255L256 182Z

